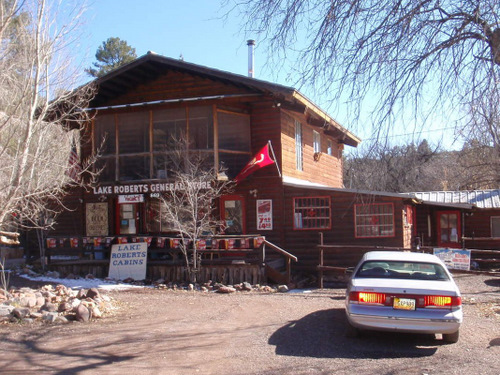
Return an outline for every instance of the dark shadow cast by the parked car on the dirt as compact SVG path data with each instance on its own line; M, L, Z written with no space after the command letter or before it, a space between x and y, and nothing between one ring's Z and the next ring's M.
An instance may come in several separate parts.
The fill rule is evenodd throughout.
M434 335L366 332L346 338L344 309L316 311L281 327L269 338L276 354L315 358L418 358L432 356Z

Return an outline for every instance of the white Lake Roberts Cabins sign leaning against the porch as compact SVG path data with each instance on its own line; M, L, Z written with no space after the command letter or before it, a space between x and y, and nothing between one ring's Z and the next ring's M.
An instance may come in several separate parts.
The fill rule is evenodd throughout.
M146 278L148 244L125 243L111 246L109 277L116 280Z

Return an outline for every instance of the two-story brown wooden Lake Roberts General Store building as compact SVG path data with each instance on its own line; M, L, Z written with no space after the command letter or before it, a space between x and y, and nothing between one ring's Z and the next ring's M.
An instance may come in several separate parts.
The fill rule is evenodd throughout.
M175 184L168 150L179 134L214 166L223 164L229 178L272 145L276 165L247 176L220 199L226 236L265 237L297 255L297 269L309 270L321 241L412 246L414 200L343 189L344 147L360 140L297 90L154 53L95 83L86 109L94 119L82 136L81 157L102 147L102 173L93 189L68 196L71 211L48 234L54 253L68 243L98 251L141 238L151 252L164 248L168 234L155 213L158 198Z

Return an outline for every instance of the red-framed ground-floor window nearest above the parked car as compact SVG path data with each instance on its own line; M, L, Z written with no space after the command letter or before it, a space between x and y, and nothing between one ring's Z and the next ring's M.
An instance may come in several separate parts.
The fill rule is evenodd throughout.
M394 237L392 203L357 204L354 206L355 237Z

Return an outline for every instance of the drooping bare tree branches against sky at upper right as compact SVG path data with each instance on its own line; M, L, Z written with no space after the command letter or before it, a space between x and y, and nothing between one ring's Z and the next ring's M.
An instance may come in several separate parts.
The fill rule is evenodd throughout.
M223 3L269 41L273 57L294 58L300 83L352 104L350 121L373 107L379 135L399 114L399 121L422 124L432 114L449 123L479 98L498 97L498 0Z

